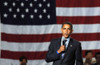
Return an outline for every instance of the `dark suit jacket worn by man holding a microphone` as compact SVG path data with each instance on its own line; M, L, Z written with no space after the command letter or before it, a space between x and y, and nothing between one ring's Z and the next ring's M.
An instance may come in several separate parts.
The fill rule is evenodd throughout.
M45 59L47 62L53 61L53 65L74 65L76 60L76 65L83 65L80 42L70 38L63 59L61 54L56 53L56 51L60 48L60 46L61 46L61 38L53 39L51 41Z

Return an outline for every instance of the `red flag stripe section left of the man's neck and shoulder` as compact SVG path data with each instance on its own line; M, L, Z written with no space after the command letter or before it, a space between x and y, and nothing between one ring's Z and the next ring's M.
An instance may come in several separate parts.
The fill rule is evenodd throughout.
M18 34L6 34L6 33L1 33L1 35L2 35L1 40L8 41L8 42L48 42L53 38L57 38L61 36L61 34L18 35Z

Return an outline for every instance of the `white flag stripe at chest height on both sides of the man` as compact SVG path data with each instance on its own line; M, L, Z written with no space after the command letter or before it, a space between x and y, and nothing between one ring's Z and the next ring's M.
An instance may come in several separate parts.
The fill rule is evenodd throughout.
M50 44L50 42L12 43L12 42L6 42L6 41L2 41L1 43L2 43L1 44L2 50L10 50L10 51L47 51L48 46ZM83 50L100 49L100 41L81 41L81 46Z

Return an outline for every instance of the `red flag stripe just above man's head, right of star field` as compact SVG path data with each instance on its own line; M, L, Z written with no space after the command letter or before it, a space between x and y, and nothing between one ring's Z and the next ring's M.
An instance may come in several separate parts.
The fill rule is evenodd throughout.
M62 24L65 21L70 21L72 24L96 24L100 23L100 16L73 16L73 17L62 17L57 16L57 24Z

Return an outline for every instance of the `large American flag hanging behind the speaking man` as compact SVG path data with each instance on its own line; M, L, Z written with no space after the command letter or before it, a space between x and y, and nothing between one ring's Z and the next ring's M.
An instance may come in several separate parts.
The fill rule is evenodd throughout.
M74 25L72 38L86 50L100 51L100 0L0 0L0 65L19 65L26 56L28 65L45 62L50 40L61 37L61 24Z

